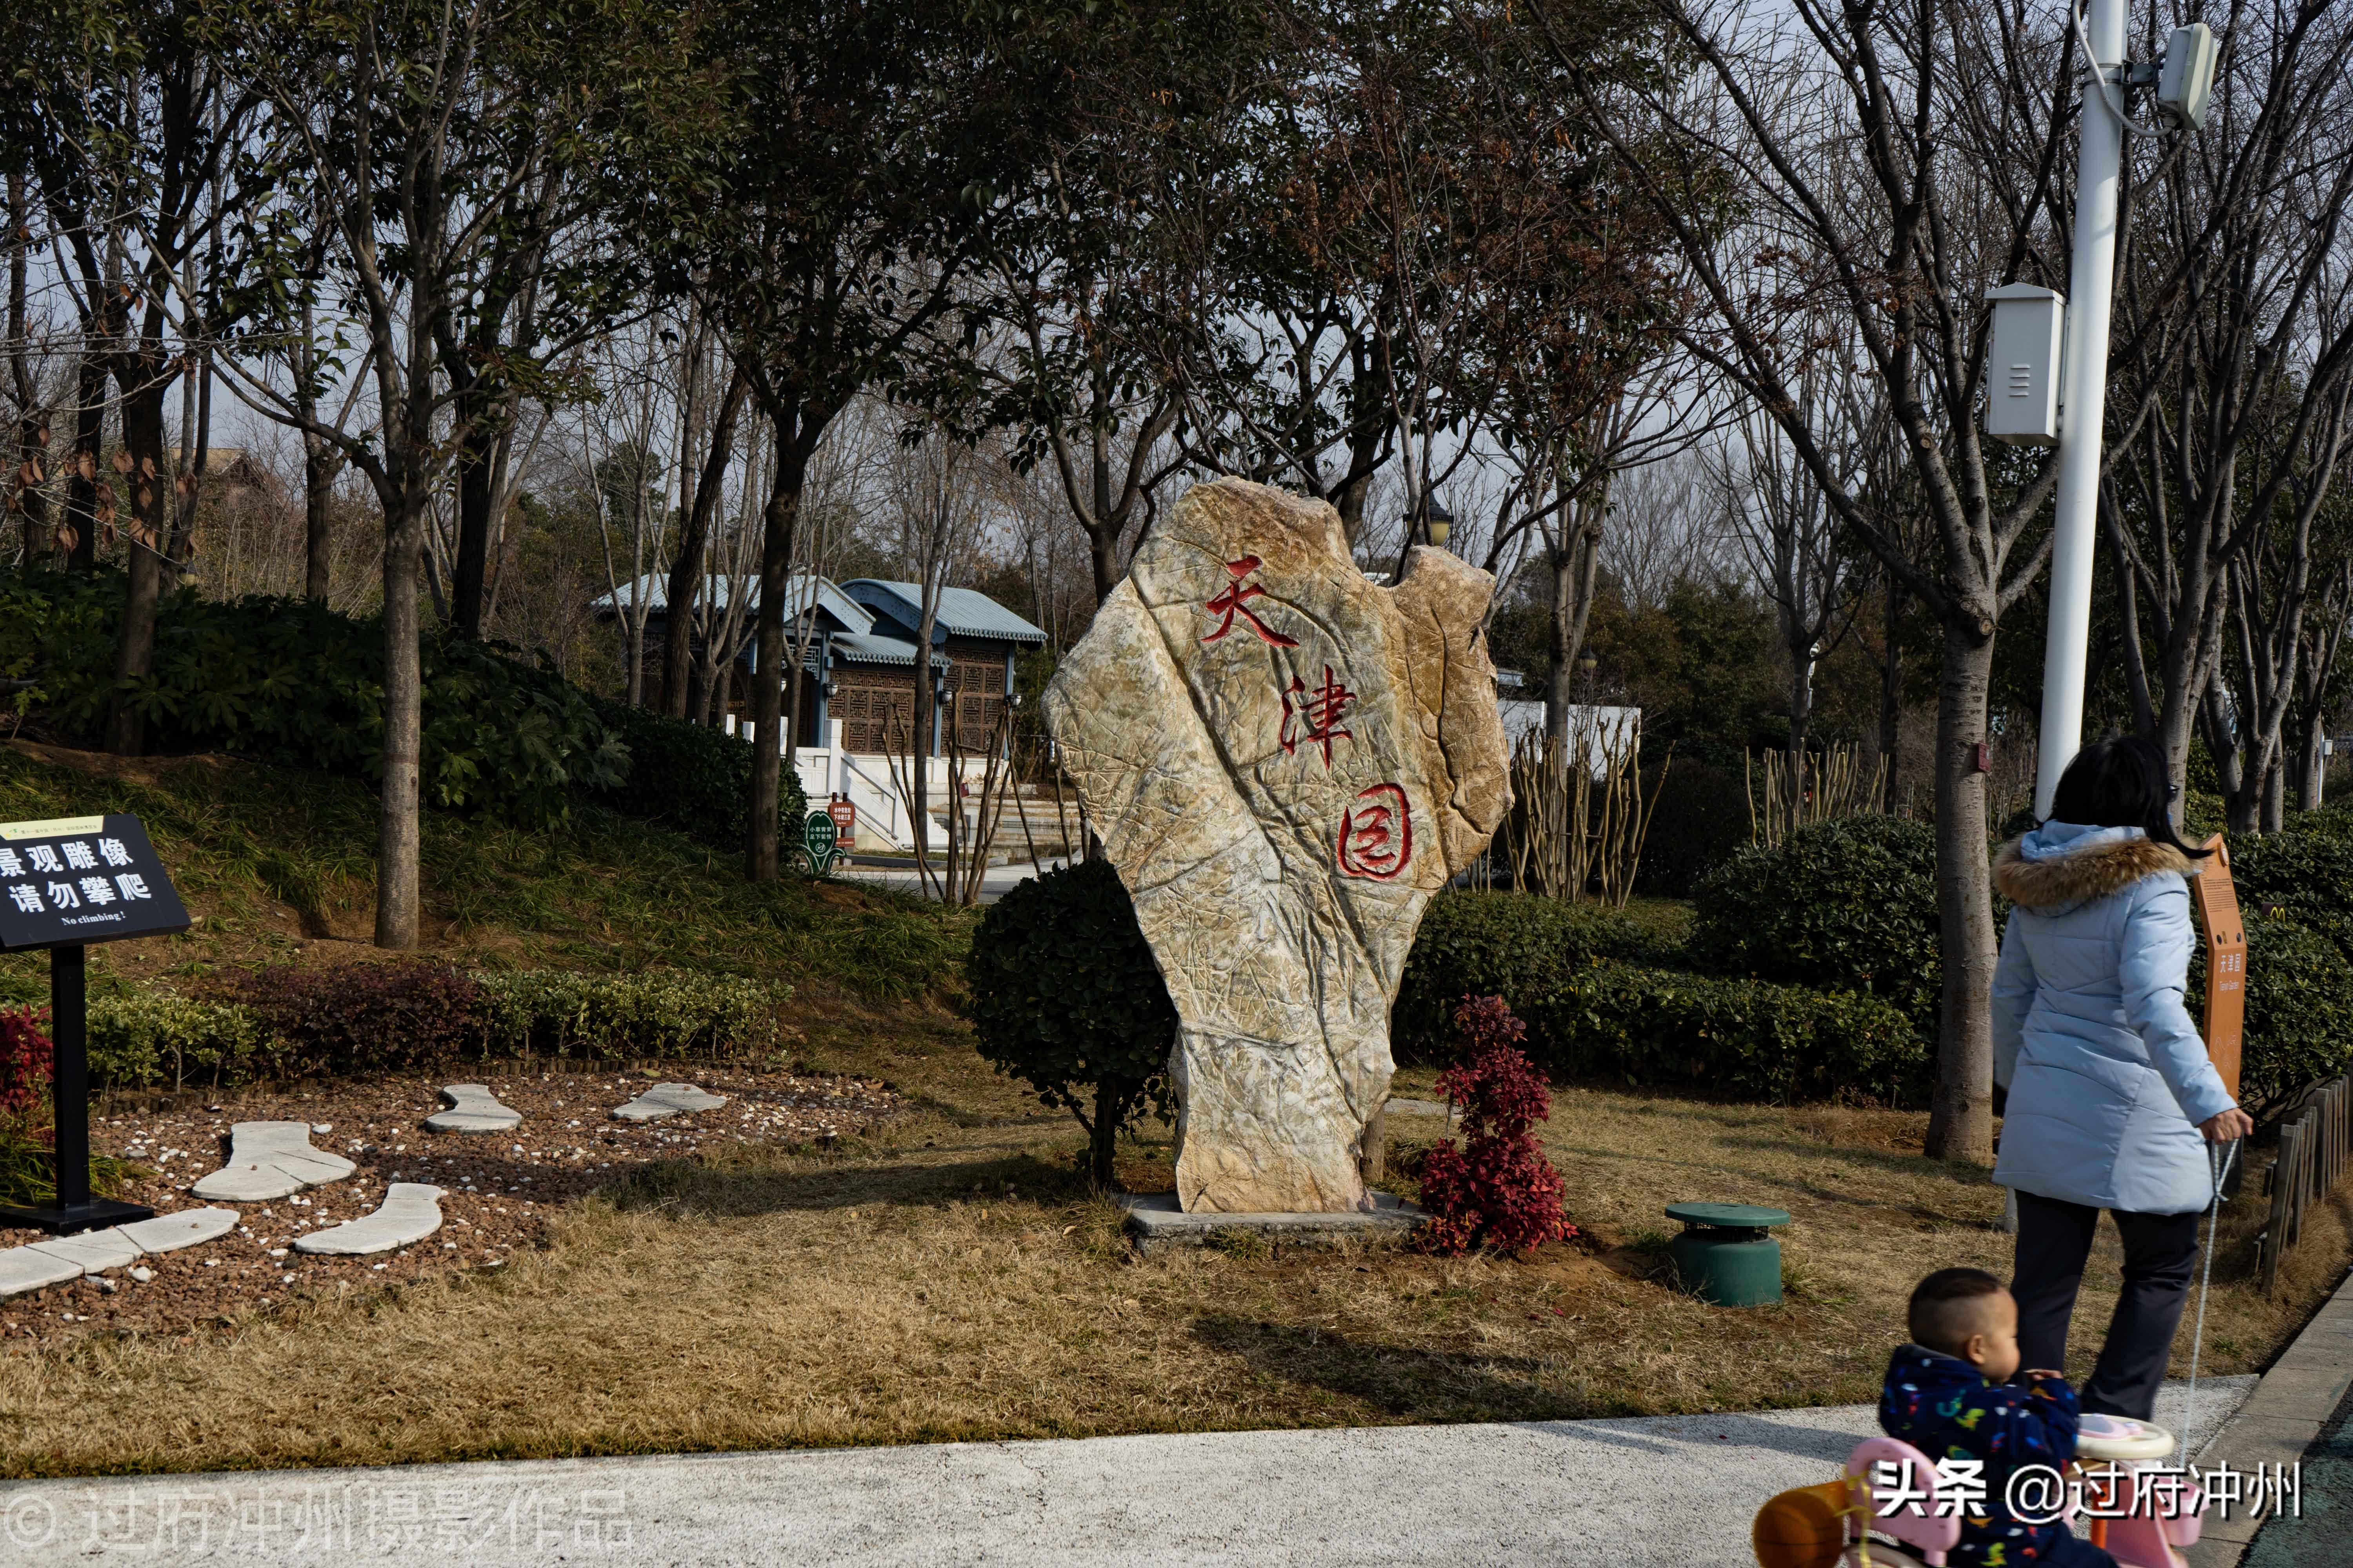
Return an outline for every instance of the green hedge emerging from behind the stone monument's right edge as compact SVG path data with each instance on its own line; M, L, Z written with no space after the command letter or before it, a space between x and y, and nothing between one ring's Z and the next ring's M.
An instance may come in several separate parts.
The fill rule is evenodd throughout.
M1518 1009L1595 959L1673 964L1678 943L1598 903L1457 891L1431 898L1388 1013L1398 1060L1449 1060L1464 997Z

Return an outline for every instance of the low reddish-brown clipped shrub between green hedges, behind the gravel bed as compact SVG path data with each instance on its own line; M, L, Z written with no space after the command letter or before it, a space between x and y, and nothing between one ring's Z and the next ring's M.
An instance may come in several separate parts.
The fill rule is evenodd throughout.
M482 987L449 964L273 966L226 999L271 1027L285 1077L405 1072L480 1056L489 1025Z

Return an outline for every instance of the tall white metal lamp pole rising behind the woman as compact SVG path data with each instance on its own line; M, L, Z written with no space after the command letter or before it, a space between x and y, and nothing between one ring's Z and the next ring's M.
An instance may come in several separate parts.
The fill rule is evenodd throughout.
M2085 82L2075 167L2075 268L2068 277L2066 353L2059 367L2059 515L2052 524L2052 599L2042 642L2042 731L2035 743L2035 816L2049 816L2059 773L2082 745L2082 677L2092 644L2092 543L2099 524L2099 433L2108 414L2108 292L2115 282L2115 186L2125 127L2125 0L2092 0L2092 59L2115 99Z

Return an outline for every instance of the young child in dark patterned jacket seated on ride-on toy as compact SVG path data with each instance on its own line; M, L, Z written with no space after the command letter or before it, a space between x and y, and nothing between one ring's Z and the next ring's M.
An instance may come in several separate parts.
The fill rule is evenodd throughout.
M1887 1361L1880 1427L1969 1476L1953 1563L1972 1568L2115 1568L2064 1521L2024 1523L2009 1476L2064 1472L2075 1458L2075 1389L2049 1371L2019 1375L2019 1302L1984 1269L1937 1269L1913 1291L1911 1345ZM1974 1465L1974 1472L1969 1469ZM1939 1490L1944 1490L1939 1481ZM1984 1488L1977 1495L1977 1488Z

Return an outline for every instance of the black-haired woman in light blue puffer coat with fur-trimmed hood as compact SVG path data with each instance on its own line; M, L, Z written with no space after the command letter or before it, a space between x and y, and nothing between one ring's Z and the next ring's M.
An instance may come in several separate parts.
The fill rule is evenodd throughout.
M2151 741L2087 745L2052 816L2002 849L2009 929L1993 976L1993 1081L2009 1091L1993 1180L2019 1194L2021 1366L2064 1368L2075 1291L2106 1208L2125 1291L2085 1415L2148 1420L2214 1199L2207 1143L2254 1124L2181 1006L2195 858ZM2202 1138L2200 1138L2202 1135Z

